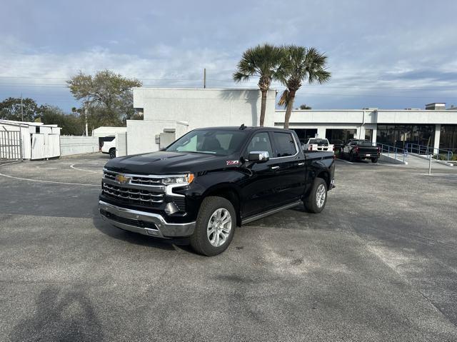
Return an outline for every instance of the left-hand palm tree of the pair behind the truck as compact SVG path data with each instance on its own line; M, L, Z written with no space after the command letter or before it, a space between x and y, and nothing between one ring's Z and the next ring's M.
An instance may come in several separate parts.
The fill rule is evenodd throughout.
M233 81L248 81L252 76L258 76L258 88L262 92L260 109L260 126L265 121L266 93L270 89L271 81L282 79L283 49L271 44L258 45L243 52L241 60L236 66Z

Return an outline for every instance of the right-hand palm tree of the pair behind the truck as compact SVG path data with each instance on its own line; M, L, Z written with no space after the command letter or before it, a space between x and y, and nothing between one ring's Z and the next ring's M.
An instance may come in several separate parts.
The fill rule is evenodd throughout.
M284 128L288 129L295 94L302 82L323 84L330 79L331 73L326 71L327 56L315 48L289 45L283 46L283 51L286 60L283 62L285 71L281 74L281 82L286 86L286 90L283 91L278 105L286 107Z

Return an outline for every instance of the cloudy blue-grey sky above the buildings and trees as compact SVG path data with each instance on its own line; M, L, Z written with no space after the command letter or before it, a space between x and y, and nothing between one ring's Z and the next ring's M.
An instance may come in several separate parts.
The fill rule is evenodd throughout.
M206 68L210 88L256 88L232 74L243 51L265 42L328 56L331 81L303 84L296 106L457 106L456 0L2 0L0 101L22 94L69 112L79 103L66 80L102 69L197 88Z

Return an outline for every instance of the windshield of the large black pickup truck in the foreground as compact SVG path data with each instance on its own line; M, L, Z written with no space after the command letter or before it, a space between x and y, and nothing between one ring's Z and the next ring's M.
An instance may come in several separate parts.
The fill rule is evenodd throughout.
M199 129L181 136L181 138L167 147L165 151L229 156L239 151L245 136L246 134L243 131Z

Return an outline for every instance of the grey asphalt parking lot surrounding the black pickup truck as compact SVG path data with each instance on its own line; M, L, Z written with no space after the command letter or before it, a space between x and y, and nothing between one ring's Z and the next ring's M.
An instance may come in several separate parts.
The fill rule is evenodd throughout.
M1 341L457 341L457 170L337 161L207 258L102 221L106 161L0 166Z

